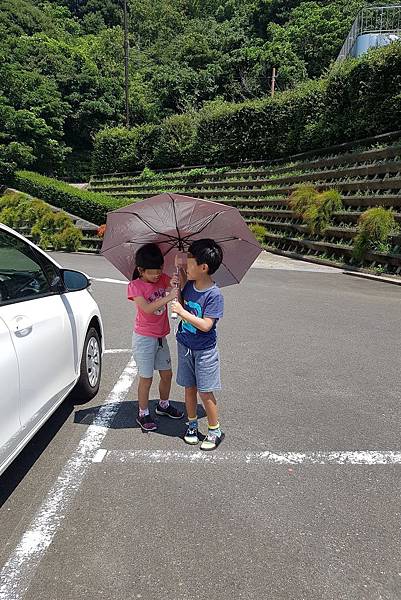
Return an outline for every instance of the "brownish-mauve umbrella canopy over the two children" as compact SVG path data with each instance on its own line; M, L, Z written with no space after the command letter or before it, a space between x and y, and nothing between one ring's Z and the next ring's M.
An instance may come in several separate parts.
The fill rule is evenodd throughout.
M160 194L107 215L101 253L127 279L132 279L136 251L157 244L164 271L175 272L174 258L191 243L211 238L223 249L223 263L213 279L219 286L239 283L262 248L238 210L180 194Z

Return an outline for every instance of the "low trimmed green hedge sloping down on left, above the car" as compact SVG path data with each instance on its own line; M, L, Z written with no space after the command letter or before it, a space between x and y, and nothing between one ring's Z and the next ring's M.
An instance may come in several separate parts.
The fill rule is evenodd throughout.
M40 198L92 223L105 223L110 210L126 204L124 200L107 194L88 192L68 183L31 171L17 171L12 185L19 191Z

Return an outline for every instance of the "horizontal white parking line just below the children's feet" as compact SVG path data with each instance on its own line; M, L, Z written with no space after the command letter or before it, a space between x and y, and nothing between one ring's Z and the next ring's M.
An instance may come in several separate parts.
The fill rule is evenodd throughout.
M401 465L401 452L352 450L339 452L202 452L167 450L106 450L100 448L93 462L108 463L208 463L242 465Z

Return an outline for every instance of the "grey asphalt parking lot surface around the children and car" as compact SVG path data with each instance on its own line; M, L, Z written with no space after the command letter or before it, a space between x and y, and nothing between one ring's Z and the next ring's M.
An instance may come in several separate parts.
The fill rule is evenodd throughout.
M57 259L122 279L98 256ZM401 598L401 464L373 454L401 450L401 288L277 257L260 267L224 290L226 439L207 459L180 439L183 422L137 427L133 306L125 285L94 281L106 347L120 352L104 356L97 397L67 399L0 478L0 583L19 556L1 600ZM98 462L74 472L105 403L116 414ZM350 451L372 464L338 459ZM38 522L49 537L33 556Z

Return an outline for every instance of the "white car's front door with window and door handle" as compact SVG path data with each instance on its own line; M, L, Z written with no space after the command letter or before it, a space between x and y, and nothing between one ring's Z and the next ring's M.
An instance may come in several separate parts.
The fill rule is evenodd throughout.
M21 425L28 431L76 378L75 323L60 295L58 275L33 246L0 229L1 316L17 355Z

